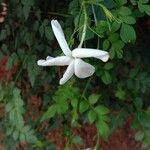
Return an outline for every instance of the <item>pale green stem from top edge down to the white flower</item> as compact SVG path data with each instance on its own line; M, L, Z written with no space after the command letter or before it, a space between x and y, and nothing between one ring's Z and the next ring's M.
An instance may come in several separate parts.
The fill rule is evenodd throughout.
M85 39L85 36L86 36L87 21L88 21L87 13L86 13L86 6L85 6L85 2L84 1L82 2L82 7L83 7L83 13L84 13L84 24L83 24L81 41L80 41L80 44L78 46L79 48L81 48L82 45L83 45L83 42L84 42L84 39Z

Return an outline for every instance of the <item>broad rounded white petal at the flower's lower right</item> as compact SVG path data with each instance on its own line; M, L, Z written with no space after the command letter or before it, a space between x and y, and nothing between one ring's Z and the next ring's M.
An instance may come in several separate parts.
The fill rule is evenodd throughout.
M95 68L90 65L89 63L86 63L82 59L75 59L75 75L78 78L87 78L95 72Z

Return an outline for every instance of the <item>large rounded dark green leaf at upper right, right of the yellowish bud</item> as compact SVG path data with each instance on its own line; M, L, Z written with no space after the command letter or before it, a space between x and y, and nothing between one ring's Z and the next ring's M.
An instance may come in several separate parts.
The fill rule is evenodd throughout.
M121 30L120 30L120 37L125 42L135 42L136 40L136 33L132 26L127 24L122 24Z

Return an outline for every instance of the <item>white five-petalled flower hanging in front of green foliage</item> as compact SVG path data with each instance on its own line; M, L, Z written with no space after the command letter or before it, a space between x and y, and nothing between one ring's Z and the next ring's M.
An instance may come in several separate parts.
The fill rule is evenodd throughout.
M90 49L90 48L75 48L70 50L63 30L57 20L51 21L53 32L56 39L65 54L65 56L58 56L56 58L48 56L46 60L38 60L37 64L40 66L68 66L63 77L60 79L60 84L67 82L73 74L78 78L87 78L95 72L95 68L86 63L81 58L95 57L106 62L109 59L109 54L106 51Z

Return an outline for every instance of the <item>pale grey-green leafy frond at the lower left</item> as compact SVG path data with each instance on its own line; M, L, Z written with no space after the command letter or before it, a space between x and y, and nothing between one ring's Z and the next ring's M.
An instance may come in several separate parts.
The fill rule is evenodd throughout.
M0 100L5 103L6 117L8 117L6 120L7 136L12 135L14 140L20 140L21 142L35 143L37 137L33 129L25 125L23 120L25 109L20 90L16 87L0 88Z

